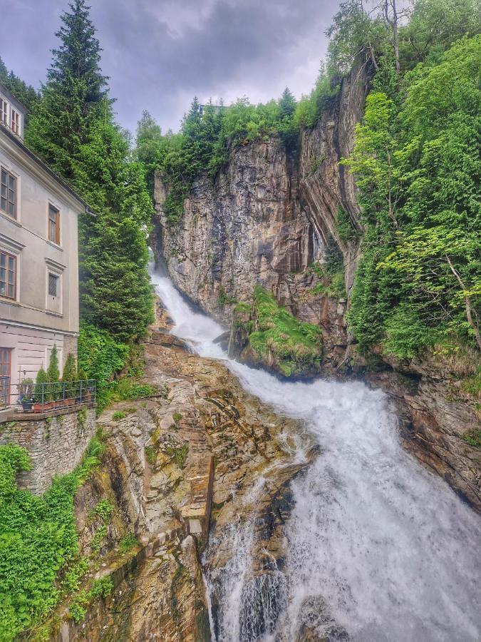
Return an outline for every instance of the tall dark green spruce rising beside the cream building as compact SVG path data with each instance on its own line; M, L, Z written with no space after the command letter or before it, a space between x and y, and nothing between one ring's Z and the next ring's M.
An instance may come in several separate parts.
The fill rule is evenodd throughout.
M79 223L81 317L118 340L151 320L147 233L152 200L140 163L113 121L100 44L84 0L71 2L27 143L86 199Z

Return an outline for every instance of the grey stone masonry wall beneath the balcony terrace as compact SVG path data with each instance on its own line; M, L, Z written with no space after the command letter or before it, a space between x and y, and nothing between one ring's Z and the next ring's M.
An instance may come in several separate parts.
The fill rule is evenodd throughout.
M76 467L94 434L95 407L0 424L0 444L19 444L31 457L33 468L19 475L19 486L35 495L45 492L55 475Z

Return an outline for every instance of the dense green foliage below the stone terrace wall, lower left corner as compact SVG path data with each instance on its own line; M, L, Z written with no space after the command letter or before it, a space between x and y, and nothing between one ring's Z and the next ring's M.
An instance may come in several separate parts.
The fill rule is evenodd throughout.
M103 449L93 439L73 472L34 496L16 486L16 473L30 467L24 449L0 446L0 639L13 640L58 602L56 576L78 553L73 498Z

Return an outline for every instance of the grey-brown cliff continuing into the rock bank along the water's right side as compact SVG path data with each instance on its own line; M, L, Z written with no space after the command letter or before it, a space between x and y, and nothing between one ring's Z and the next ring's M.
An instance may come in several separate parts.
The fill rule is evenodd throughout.
M344 314L358 245L339 235L339 208L362 230L353 176L338 161L353 148L369 73L361 66L343 80L316 126L301 133L298 159L277 138L234 149L214 184L205 177L195 181L176 225L163 215L168 185L157 176L155 253L180 290L226 324L234 301L252 302L259 282L300 320L319 325L321 371L361 375L386 389L405 418L405 444L481 509L479 449L462 439L467 429L479 427L479 403L453 387L456 373L435 360L408 364L382 355L373 367L350 345ZM309 269L316 260L322 263L332 240L343 256L346 298L326 295L322 278ZM232 329L231 339L233 355L249 355L242 327Z

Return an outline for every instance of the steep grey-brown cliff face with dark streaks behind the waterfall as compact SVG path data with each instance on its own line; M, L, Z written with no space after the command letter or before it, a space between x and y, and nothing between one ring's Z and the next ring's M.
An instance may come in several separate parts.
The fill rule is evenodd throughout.
M357 248L339 237L336 213L343 208L356 227L358 206L353 177L338 161L352 150L367 85L366 66L343 81L331 108L302 133L299 157L275 137L234 149L214 183L195 181L177 224L162 210L168 186L155 180L154 251L180 290L229 323L234 302L251 300L260 283L300 320L321 326L330 367L347 345L346 300L326 296L309 266L322 263L335 240L350 289Z

